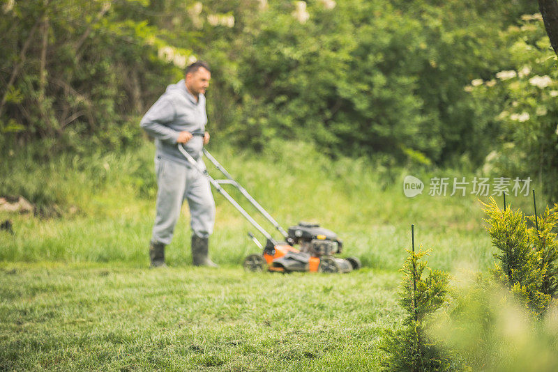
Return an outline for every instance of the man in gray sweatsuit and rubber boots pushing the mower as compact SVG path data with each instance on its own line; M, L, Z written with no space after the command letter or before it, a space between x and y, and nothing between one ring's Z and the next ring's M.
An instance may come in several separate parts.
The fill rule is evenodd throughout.
M141 126L155 137L155 170L157 175L156 217L149 247L151 267L165 266L165 245L169 245L182 203L190 207L192 259L194 265L217 267L209 259L209 235L215 222L215 201L209 180L191 166L177 148L186 151L205 168L202 148L209 142L205 131L206 88L211 71L202 61L186 68L186 77L167 86L167 91L142 118ZM200 135L198 135L200 134Z

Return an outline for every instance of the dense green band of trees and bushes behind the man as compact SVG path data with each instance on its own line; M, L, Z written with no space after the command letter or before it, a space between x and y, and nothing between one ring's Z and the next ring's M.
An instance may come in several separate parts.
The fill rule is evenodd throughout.
M239 146L296 138L330 155L480 164L499 128L463 87L502 70L499 31L534 11L531 1L4 0L1 147L135 144L138 118L197 57L213 65L210 129Z

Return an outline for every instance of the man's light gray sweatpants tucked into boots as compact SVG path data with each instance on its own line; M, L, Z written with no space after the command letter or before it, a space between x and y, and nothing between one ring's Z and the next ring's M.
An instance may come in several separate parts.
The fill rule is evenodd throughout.
M205 169L201 158L198 164ZM213 233L215 223L215 201L209 180L192 166L164 157L156 156L155 171L158 192L151 241L170 244L185 200L190 206L192 233L200 238L208 238Z

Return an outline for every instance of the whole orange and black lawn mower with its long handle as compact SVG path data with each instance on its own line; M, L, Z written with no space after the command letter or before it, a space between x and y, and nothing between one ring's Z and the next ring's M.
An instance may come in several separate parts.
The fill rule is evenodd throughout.
M194 135L202 135L203 133L195 132ZM179 151L186 157L186 160L206 176L211 185L222 194L248 222L254 226L257 231L262 233L266 238L266 245L262 245L252 233L248 233L252 242L262 249L262 254L250 254L244 259L243 267L249 271L269 270L271 272L350 272L361 268L359 258L352 256L347 258L337 258L333 254L339 254L342 251L342 241L338 239L333 231L327 230L318 224L308 224L299 222L296 226L291 226L288 232L285 231L269 215L259 203L252 198L250 194L237 183L232 176L219 164L219 162L207 151L203 149L204 155L213 163L213 165L227 178L224 180L213 179L206 169L202 169L194 158L183 148L178 145ZM232 185L250 201L258 212L260 212L275 228L281 233L284 241L274 240L255 219L253 219L239 203L237 203L221 185ZM300 249L294 246L299 245Z

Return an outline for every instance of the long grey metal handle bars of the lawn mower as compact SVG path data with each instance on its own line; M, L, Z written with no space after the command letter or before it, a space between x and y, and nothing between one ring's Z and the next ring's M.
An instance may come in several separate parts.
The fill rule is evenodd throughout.
M229 178L229 180L215 180L213 179L210 175L209 172L207 171L207 169L202 169L197 162L194 160L194 158L192 157L192 155L190 155L188 153L188 151L186 151L183 146L181 144L177 145L179 151L182 153L182 155L184 157L186 157L186 160L188 160L188 162L195 168L197 169L197 171L199 171L200 173L202 173L204 176L206 176L206 178L209 180L209 183L211 183L211 185L213 185L213 187L215 187L217 189L217 191L222 194L223 196L225 196L225 199L227 199L227 201L229 201L229 203L231 203L234 208L236 208L236 210L238 210L241 215L243 215L243 217L245 217L248 222L250 222L250 224L252 224L252 226L254 226L255 228L257 228L257 231L259 231L260 233L262 233L262 235L264 235L268 240L273 241L273 238L271 237L271 235L262 227L260 226L255 219L253 219L248 212L246 212L246 210L244 210L244 208L242 208L242 206L237 203L232 196L229 195L228 192L225 191L225 189L223 189L223 187L221 187L221 183L226 183L229 185L234 185L237 189L239 189L239 191L246 196L246 199L248 199L248 201L250 201L250 203L252 203L253 206L255 206L255 208L257 208L257 210L259 210L259 212L262 212L262 215L264 215L265 217L267 217L269 219L269 221L274 224L276 226L276 228L278 228L279 231L281 231L281 233L283 235L285 235L285 238L287 238L287 233L285 233L285 230L283 230L281 228L281 226L279 226L279 224L275 221L275 219L273 219L273 217L271 217L271 215L269 215L269 213L267 213L264 208L262 206L259 205L259 203L257 203L257 201L255 201L254 198L252 198L252 196L250 196L250 194L248 194L248 192L246 191L246 189L244 189L241 185L239 185L239 183L237 183L235 180L233 180L230 175L227 173L227 171L225 171L225 169L223 169L223 166L221 166L217 160L211 156L211 154L209 153L209 151L207 151L204 148L204 154L206 155L206 157L208 157L208 159L213 163L213 165L216 166L217 169L219 169L225 176L227 176L227 178Z

